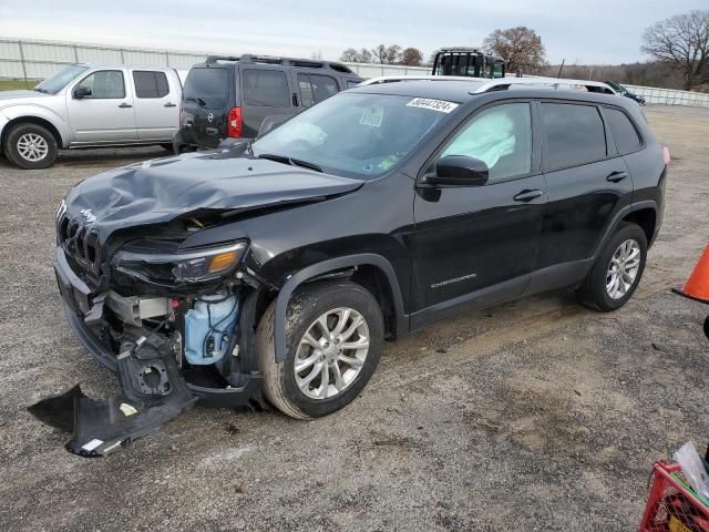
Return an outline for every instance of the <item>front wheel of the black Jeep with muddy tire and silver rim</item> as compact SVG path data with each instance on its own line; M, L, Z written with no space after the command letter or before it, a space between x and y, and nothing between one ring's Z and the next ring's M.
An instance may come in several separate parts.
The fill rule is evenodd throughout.
M326 318L326 321L337 324L339 318L336 313L342 309L350 309L351 311L345 320L346 334L354 325L351 316L359 315L359 317L363 318L366 329L369 332L368 350L363 357L361 357L361 351L354 349L345 349L339 351L343 355L337 355L336 341L328 346L328 349L335 349L333 352L328 349L319 350L318 352L320 354L328 354L327 359L325 355L321 355L321 359L318 359L315 364L311 362L311 366L305 366L307 369L301 370L299 374L301 379L304 377L307 379L311 371L317 374L316 378L306 386L308 390L306 392L298 386L296 380L296 359L298 358L300 364L306 364L307 360L304 362L306 358L318 358L319 355L311 347L311 344L301 345L301 339L307 331L310 331L311 338L317 338L319 340L318 345L322 347L321 342L325 339L325 335L322 335L322 338L318 337L318 331L321 331L322 328L316 324L316 320L327 313L335 313ZM255 338L256 354L264 375L264 392L268 401L285 415L296 419L327 416L351 402L362 391L374 372L383 348L384 323L377 299L367 289L349 280L314 283L296 290L290 298L286 314L287 355L286 360L281 364L276 364L275 357L275 313L276 301L268 307L261 317ZM359 323L359 320L357 321ZM333 328L337 327L335 326ZM360 330L364 330L364 328L360 326L349 336L350 340L354 338L350 345L366 341L367 335L360 336ZM354 360L360 357L363 364L359 365L358 362L357 367L359 369L357 369L354 366L349 366L347 362L341 361L340 356L346 357L346 360ZM335 357L335 360L330 360L331 357ZM357 360L360 360L360 358L357 358ZM328 364L330 366L327 366ZM337 372L341 376L340 386L345 385L340 390L336 388L335 366L332 365L337 366ZM322 367L327 369L318 369ZM327 371L328 382L331 382L328 387L323 386L323 371ZM350 380L345 383L345 377L347 376L349 376ZM311 397L311 395L318 393L317 389L309 389L315 385L318 385L319 389L326 390L325 398ZM329 397L327 395L328 391L331 393Z

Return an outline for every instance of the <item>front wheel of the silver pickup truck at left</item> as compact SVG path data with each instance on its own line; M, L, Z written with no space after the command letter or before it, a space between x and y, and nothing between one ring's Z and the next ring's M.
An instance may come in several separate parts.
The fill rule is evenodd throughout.
M54 135L47 127L32 123L13 126L2 149L11 163L23 170L49 168L59 152Z

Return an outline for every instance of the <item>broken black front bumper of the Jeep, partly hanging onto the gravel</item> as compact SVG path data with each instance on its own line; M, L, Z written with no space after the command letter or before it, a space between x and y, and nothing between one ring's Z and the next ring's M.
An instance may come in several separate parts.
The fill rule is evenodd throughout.
M105 456L156 431L197 403L265 407L261 376L253 357L258 290L251 290L240 304L239 336L234 349L238 351L238 364L219 382L213 382L186 378L192 374L183 367L182 345L174 346L155 330L135 327L136 324L126 324L130 334L123 335L120 349L112 349L96 331L106 329L106 315L115 317L111 304L115 308L115 301L122 298L111 299L109 291L92 290L72 270L61 247L56 248L54 269L69 325L94 358L117 374L123 390L120 396L94 401L76 386L30 407L30 412L48 424L73 431L66 444L69 451L84 457Z

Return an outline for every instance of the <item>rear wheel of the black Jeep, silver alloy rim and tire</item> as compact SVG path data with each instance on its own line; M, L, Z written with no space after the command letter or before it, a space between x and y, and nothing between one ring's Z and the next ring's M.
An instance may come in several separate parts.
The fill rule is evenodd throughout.
M607 283L613 280L610 267L612 259L617 258L616 254L623 250L619 249L621 245L628 242L634 242L637 245L639 263L637 265L637 272L633 277L631 283L627 286L627 283L620 283L616 285L618 290L615 291L615 297L612 295L613 289L608 287ZM629 247L631 248L631 246ZM588 276L584 280L584 284L576 290L576 297L580 303L589 306L602 313L609 313L617 310L624 306L628 299L633 296L633 293L640 283L643 272L645 270L645 262L647 259L647 237L645 232L636 224L624 224L613 235L603 247L603 250L596 258L594 266L592 267ZM627 260L628 267L634 264ZM617 266L616 266L617 267ZM621 276L620 279L626 282L629 279L627 276ZM626 288L624 288L627 286ZM624 291L625 290L625 291Z

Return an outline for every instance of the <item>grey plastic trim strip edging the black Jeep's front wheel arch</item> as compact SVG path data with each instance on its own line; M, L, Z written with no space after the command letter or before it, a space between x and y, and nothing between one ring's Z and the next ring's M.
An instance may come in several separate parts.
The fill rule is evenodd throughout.
M389 260L387 260L381 255L376 255L372 253L362 253L358 255L348 255L345 257L331 258L329 260L323 260L321 263L317 263L302 268L298 273L291 275L280 288L280 291L278 293L278 297L276 299L276 316L274 318L274 344L277 364L282 362L288 355L286 346L286 311L288 309L288 301L290 301L290 296L296 290L296 288L298 288L298 286L307 282L308 279L317 277L318 275L332 272L335 269L363 265L374 266L384 273L387 279L389 280L389 288L391 289L394 305L394 327L397 328L397 335L402 335L408 331L409 319L403 310L401 287L399 286L394 268L391 266L391 263L389 263Z

